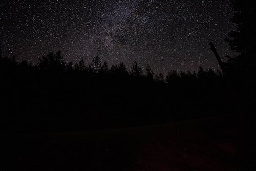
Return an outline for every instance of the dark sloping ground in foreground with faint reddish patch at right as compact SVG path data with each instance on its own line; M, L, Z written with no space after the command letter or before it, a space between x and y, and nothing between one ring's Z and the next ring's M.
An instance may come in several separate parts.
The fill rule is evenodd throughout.
M0 170L240 170L232 118L3 136Z

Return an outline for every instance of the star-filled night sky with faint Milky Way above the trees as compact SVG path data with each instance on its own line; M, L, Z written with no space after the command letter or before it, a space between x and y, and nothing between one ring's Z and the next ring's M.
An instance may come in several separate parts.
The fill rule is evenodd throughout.
M50 51L87 63L134 61L156 72L218 69L209 48L232 55L224 38L236 29L228 0L0 1L4 55L33 63ZM223 58L224 59L224 58Z

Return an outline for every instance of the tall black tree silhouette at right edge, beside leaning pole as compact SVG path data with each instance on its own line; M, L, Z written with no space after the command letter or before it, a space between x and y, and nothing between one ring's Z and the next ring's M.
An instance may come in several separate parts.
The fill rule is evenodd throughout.
M231 19L237 24L237 30L229 32L226 41L230 48L237 52L236 57L228 57L225 63L227 78L233 90L240 97L244 115L254 115L256 105L256 2L232 0L234 16Z

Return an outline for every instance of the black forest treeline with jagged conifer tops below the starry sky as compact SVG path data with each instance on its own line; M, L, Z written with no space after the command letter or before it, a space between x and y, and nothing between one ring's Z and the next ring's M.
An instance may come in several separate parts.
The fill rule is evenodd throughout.
M5 131L72 131L156 124L235 111L221 72L143 74L136 62L67 63L60 51L36 65L0 58Z

